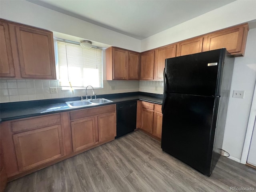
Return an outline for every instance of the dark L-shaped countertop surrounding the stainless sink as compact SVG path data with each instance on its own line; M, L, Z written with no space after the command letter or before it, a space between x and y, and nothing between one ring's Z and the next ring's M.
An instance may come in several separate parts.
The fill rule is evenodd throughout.
M46 114L52 114L57 112L70 111L70 110L78 110L78 109L84 109L84 108L92 108L92 107L104 106L109 104L117 104L117 103L128 102L128 101L136 101L136 100L144 100L144 101L153 102L156 104L162 104L163 95L151 94L151 93L145 93L145 92L131 92L131 93L98 95L97 98L106 98L108 100L112 100L113 102L94 105L94 106L76 107L76 108L70 108L66 104L66 101L80 100L80 97L1 103L0 118L1 118L1 121L8 121L8 120L14 120L14 119L20 119L20 118L40 116L40 115L46 115Z

